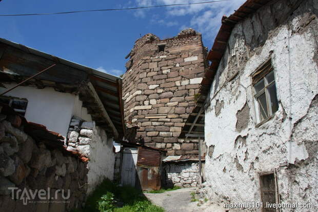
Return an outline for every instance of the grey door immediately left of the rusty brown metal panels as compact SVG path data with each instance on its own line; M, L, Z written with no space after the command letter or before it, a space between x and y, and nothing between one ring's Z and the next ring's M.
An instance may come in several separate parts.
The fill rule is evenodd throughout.
M123 149L122 162L122 185L135 186L136 182L136 164L137 164L137 148L125 147Z

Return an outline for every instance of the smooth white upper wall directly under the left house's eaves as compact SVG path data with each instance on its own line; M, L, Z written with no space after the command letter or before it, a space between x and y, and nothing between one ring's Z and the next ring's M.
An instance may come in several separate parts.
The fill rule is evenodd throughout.
M7 89L15 84L6 84ZM7 90L0 87L0 92ZM51 131L66 137L72 115L91 121L91 115L82 107L82 101L71 93L62 93L53 88L37 89L30 86L19 86L8 92L7 96L25 98L28 107L25 117L28 121L43 124Z

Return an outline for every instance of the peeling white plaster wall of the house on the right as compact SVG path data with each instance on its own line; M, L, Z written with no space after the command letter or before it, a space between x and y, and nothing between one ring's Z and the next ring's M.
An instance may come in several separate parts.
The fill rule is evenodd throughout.
M261 201L258 174L276 169L282 203L318 209L318 3L304 1L289 16L288 2L296 1L277 1L236 24L217 70L205 113L204 194L214 201ZM279 109L257 127L250 75L270 56Z

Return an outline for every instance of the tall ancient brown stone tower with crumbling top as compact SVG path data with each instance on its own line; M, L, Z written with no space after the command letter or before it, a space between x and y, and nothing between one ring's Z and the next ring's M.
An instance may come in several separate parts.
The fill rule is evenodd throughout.
M195 106L204 76L206 49L193 29L160 40L149 33L135 42L123 76L126 123L137 137L167 155L197 155L197 141L178 139Z

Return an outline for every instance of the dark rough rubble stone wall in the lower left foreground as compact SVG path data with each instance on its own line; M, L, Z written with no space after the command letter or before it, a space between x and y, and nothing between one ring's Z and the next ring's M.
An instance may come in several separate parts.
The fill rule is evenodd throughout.
M0 106L0 211L57 212L82 207L87 198L84 158L64 149L63 141L62 146L54 143L57 141L49 141L52 145L48 146L34 140L24 132L26 126L18 115L1 113L2 109ZM8 187L16 188L14 199ZM52 199L39 199L40 192L42 197L48 192ZM34 199L31 193L36 194Z

